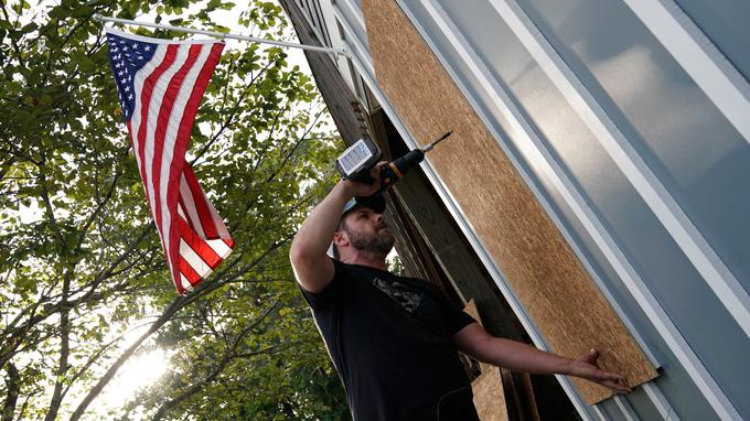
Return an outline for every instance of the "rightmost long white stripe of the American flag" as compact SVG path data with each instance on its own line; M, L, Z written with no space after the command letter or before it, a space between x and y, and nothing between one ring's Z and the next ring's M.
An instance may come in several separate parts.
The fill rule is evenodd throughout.
M190 52L192 45L181 45L180 46L180 52L182 53L184 51L185 53L185 60L181 61L182 64L188 58L188 53ZM185 75L184 79L182 80L182 84L180 86L180 89L178 90L176 98L174 98L174 104L172 107L172 110L169 116L169 121L167 123L167 132L164 133L164 145L163 145L163 152L162 152L162 159L161 159L161 177L160 177L160 188L159 188L159 199L163 204L161 207L161 225L162 229L164 231L164 236L169 237L170 233L170 227L172 225L172 218L169 212L169 208L167 206L167 194L169 192L170 187L170 180L169 180L169 174L170 171L172 170L172 160L175 158L173 156L174 153L174 143L176 141L178 137L178 130L182 123L182 118L185 111L185 105L188 102L188 99L190 99L190 95L193 93L193 87L195 86L195 79L197 79L199 74L201 73L201 69L203 69L203 65L206 62L206 58L208 57L208 52L211 52L211 46L201 46L201 53L197 56L196 61L193 63L193 65L190 67L188 71L188 74ZM176 63L176 61L175 61ZM182 65L180 65L182 67ZM175 67L175 72L180 69L180 67ZM170 68L171 71L171 68ZM174 73L172 73L174 74ZM161 101L160 101L161 102ZM176 156L179 160L184 160L184 156ZM180 174L182 177L182 174ZM179 181L178 181L179 183ZM173 188L173 186L172 186ZM178 186L179 188L179 186ZM169 250L169 238L167 239L167 250ZM182 245L180 246L180 249L182 249ZM191 250L192 251L192 250ZM203 260L201 260L203 261ZM176 262L172 262L173 265ZM201 273L201 272L199 272ZM208 272L211 273L211 272ZM205 278L205 276L201 276L201 278Z

